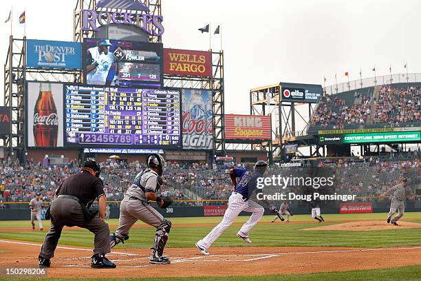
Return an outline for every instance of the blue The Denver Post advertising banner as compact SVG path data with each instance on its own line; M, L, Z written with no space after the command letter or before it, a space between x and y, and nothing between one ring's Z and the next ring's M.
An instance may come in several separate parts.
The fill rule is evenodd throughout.
M82 68L82 44L78 42L26 41L26 66L42 68Z

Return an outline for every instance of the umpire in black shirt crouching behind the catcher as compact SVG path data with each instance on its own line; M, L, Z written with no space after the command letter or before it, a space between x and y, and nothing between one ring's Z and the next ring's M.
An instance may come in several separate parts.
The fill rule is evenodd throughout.
M87 160L80 168L80 172L66 178L56 191L56 199L50 207L51 227L45 236L41 253L39 253L39 267L50 267L50 258L60 239L64 226L81 227L95 234L94 256L91 267L96 269L115 268L116 264L105 258L110 252L109 227L105 223L105 207L107 197L99 178L100 166L94 160ZM98 198L98 211L90 211L94 200ZM48 211L47 211L48 213Z

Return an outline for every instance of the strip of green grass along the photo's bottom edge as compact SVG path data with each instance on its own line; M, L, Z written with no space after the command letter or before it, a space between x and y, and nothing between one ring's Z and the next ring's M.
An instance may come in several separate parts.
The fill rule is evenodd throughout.
M125 278L125 280L139 280L140 278ZM0 278L0 280L11 280L10 278ZM40 278L21 278L13 280L40 280ZM41 279L42 280L42 279ZM56 281L74 281L74 279L54 278ZM100 278L100 279L85 279L89 281L112 281L122 280L118 278ZM166 281L336 281L336 280L356 280L356 281L373 281L373 280L405 280L415 281L421 280L421 265L411 267L396 267L391 269L374 269L374 270L359 270L359 271L343 271L330 273L312 273L312 274L294 274L294 275L267 275L267 276L233 276L233 277L200 277L200 278L142 278L142 281L166 280Z

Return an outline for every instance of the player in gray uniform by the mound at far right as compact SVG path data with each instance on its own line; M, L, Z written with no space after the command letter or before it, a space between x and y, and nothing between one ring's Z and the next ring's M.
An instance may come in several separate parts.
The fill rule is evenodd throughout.
M391 197L391 204L390 204L390 211L387 215L387 223L391 223L392 225L398 225L397 221L402 218L405 212L405 198L407 194L410 195L410 200L415 200L415 194L413 191L408 187L408 180L404 178L402 183L391 187L388 189L384 194L380 195L380 198L387 196L391 191L393 191L393 196ZM391 217L395 214L396 209L398 209L398 215L396 215L393 219Z

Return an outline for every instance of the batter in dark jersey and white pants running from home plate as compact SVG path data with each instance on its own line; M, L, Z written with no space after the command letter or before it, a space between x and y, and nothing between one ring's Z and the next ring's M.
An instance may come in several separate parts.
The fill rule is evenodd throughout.
M252 242L248 237L248 232L257 224L257 222L259 222L265 210L261 205L257 204L257 202L249 200L249 198L252 192L257 188L257 178L263 177L267 166L268 164L266 164L265 161L259 160L257 161L255 168L251 171L247 171L244 168L230 169L230 178L236 186L235 190L228 200L228 208L226 209L222 222L219 222L219 225L212 229L206 237L195 244L200 253L204 255L209 254L209 247L234 222L241 211L251 212L252 215L237 232L237 236L247 243ZM239 178L238 184L237 178ZM277 211L274 205L271 205L268 201L264 202L269 205L270 211Z

